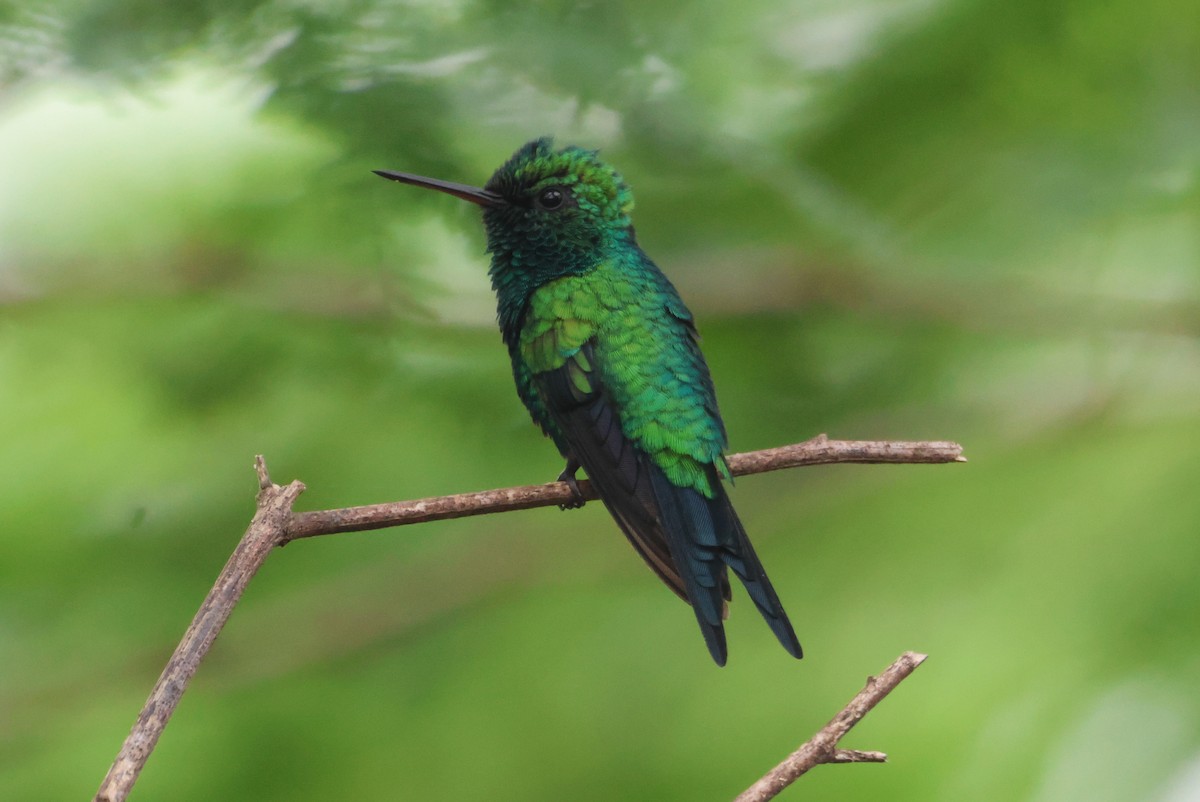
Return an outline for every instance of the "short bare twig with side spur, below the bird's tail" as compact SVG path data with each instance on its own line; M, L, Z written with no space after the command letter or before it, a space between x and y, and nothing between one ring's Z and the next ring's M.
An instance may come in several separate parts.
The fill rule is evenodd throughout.
M839 749L838 742L850 732L851 728L863 720L871 708L892 693L900 682L925 662L924 654L905 652L877 677L868 677L866 687L850 700L833 720L821 728L799 749L790 754L762 779L738 795L733 802L766 802L791 785L814 766L841 762L884 762L888 756L882 752L856 752Z

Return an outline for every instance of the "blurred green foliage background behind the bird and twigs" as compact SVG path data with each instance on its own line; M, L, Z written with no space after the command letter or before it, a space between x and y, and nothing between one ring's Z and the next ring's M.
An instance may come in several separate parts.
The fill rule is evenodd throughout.
M0 6L0 798L89 798L253 510L544 481L481 182L598 146L696 312L808 653L599 505L271 556L136 800L1200 800L1200 5ZM739 589L740 593L740 589Z

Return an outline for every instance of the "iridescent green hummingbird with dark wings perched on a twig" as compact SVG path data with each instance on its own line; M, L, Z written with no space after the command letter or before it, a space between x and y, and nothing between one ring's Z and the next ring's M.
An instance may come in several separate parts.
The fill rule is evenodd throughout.
M482 187L376 174L482 208L488 275L517 395L582 467L642 559L695 611L725 665L728 570L772 632L802 657L722 481L726 433L691 312L638 246L629 185L594 150L520 148Z

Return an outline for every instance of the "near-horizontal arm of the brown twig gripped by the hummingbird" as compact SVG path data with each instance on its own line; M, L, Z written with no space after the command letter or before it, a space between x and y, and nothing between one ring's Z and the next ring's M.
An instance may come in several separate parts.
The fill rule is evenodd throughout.
M730 471L744 477L806 465L858 463L925 463L966 462L962 447L949 442L844 441L817 435L810 441L780 445L762 451L728 456ZM583 498L596 498L587 480L580 481ZM362 532L406 523L442 521L468 515L509 513L517 509L552 507L570 502L571 490L562 481L544 485L484 490L474 493L418 498L388 504L346 507L316 513L296 513L288 528L288 540L312 538L337 532Z

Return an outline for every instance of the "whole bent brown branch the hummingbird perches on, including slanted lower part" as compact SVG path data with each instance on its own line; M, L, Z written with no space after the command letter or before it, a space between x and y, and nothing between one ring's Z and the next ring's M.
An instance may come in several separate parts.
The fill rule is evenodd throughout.
M962 447L948 442L875 442L832 441L824 435L812 439L728 457L734 475L763 473L804 465L829 465L835 462L893 462L893 463L943 463L965 462ZM505 487L475 493L421 498L418 501L349 507L343 509L294 513L296 498L305 486L299 481L280 486L271 483L266 463L256 457L258 472L258 509L246 534L221 574L212 589L192 620L191 627L175 648L146 700L142 713L133 724L121 750L113 761L94 802L121 802L137 782L142 767L154 752L158 736L179 705L188 682L200 660L208 654L221 628L224 627L233 608L241 598L246 585L254 576L266 555L275 546L287 545L299 538L312 538L340 532L379 529L406 523L422 523L468 515L506 513L534 507L550 507L571 501L571 490L565 483L552 481L544 485ZM596 498L588 481L580 483L586 499ZM848 728L847 728L848 729ZM833 754L833 753L830 753ZM838 752L830 762L862 762L874 760L874 753ZM768 798L768 797L763 797Z

